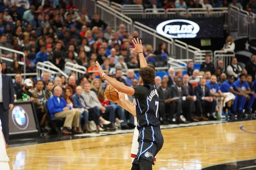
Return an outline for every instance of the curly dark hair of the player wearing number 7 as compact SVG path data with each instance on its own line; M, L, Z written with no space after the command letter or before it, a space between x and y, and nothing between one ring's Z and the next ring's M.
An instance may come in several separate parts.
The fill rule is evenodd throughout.
M155 71L151 67L141 67L139 74L144 84L154 84L156 76Z

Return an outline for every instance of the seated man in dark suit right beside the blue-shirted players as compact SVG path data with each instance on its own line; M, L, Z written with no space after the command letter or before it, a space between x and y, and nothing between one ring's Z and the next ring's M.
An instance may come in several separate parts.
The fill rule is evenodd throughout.
M216 100L212 98L209 87L206 86L206 79L201 78L200 83L194 88L195 96L200 100L202 107L206 110L209 108L210 120L216 120Z

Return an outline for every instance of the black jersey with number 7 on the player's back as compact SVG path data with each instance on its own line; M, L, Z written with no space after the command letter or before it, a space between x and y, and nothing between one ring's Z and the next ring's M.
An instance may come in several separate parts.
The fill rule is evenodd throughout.
M156 85L137 85L134 87L134 99L136 100L138 130L147 126L160 128Z

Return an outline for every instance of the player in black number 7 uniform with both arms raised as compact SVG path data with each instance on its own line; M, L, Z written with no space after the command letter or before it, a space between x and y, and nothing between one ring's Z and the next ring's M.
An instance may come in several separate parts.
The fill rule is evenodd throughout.
M134 96L136 101L137 129L139 130L139 148L131 170L152 170L154 156L163 147L163 136L158 120L158 94L154 85L155 72L147 65L142 52L143 46L141 40L139 41L137 38L137 40L134 39L132 42L134 48L130 48L130 50L137 52L140 59L140 85L134 88L128 87L106 75L99 62L96 62L96 66L99 74L117 91Z

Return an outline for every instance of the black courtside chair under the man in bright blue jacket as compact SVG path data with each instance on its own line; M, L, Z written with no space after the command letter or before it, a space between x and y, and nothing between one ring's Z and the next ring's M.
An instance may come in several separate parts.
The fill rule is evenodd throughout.
M49 124L52 129L55 129L55 131L61 135L61 127L64 124L65 118L51 118L51 115L49 113L49 110L47 108L47 101L44 101L44 111L47 113Z

